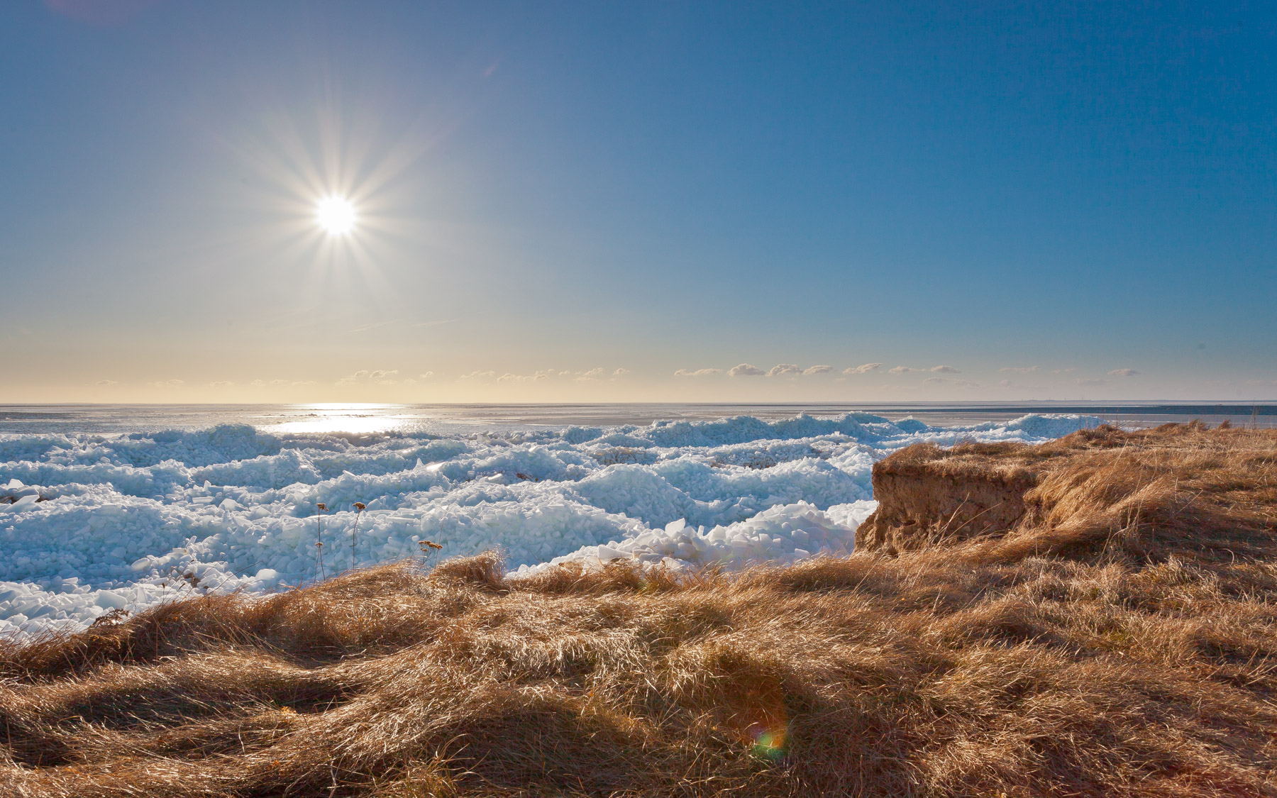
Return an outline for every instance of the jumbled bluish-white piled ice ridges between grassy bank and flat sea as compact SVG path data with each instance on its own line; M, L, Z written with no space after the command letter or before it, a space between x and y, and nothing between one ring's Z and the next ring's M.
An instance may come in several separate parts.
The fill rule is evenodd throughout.
M314 580L321 539L328 575L420 555L424 540L444 557L497 546L524 573L563 559L733 567L847 553L873 508L875 460L921 440L1033 442L1099 423L849 414L363 439L236 425L0 435L0 635Z

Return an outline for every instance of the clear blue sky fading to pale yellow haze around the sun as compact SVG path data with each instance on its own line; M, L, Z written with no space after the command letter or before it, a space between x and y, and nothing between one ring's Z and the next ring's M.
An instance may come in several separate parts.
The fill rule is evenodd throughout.
M1260 3L15 0L0 402L1273 398L1274 45Z

